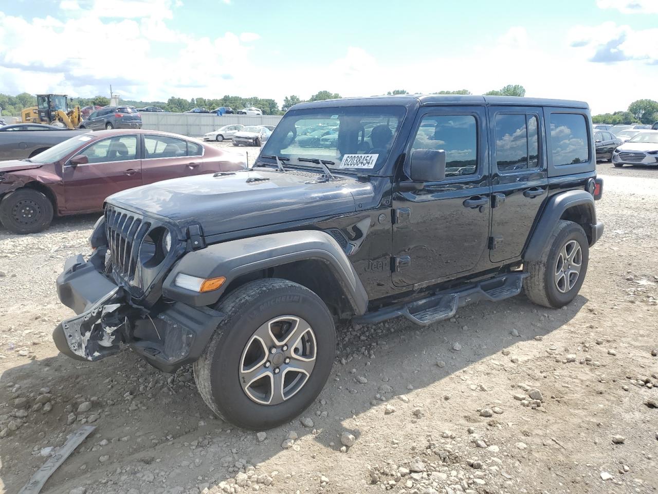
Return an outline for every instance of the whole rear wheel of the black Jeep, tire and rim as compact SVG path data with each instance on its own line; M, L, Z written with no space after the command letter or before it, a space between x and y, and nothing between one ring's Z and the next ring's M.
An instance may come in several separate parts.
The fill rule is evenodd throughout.
M578 223L561 219L537 261L526 263L526 296L540 306L560 308L576 295L587 273L590 247Z

